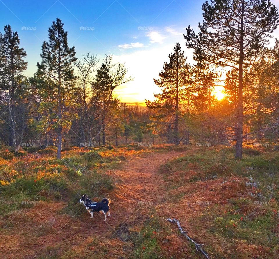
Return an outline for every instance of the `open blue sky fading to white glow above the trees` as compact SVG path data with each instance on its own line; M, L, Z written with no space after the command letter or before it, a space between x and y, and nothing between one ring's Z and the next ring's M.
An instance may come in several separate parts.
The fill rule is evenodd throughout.
M158 78L176 42L192 62L183 33L189 24L195 29L202 21L203 2L0 0L0 29L10 24L18 32L27 53L25 74L31 76L40 62L42 41L48 40L47 29L59 17L68 31L69 46L76 47L77 57L90 53L101 59L113 54L115 62L129 67L128 75L134 80L117 89L116 94L125 102L141 102L158 91L153 78Z

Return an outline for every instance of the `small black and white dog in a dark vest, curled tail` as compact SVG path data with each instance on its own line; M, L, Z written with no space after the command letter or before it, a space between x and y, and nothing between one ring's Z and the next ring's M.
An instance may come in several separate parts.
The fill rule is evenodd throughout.
M85 209L90 213L91 218L93 217L94 212L99 211L105 214L105 220L107 220L107 216L110 216L110 200L107 198L104 198L101 202L92 202L85 193L79 200L79 204L85 206Z

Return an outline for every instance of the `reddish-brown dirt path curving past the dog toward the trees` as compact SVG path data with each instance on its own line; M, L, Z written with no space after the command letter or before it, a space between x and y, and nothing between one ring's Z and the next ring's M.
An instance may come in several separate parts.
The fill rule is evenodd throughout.
M56 258L62 252L65 258L86 258L92 253L96 255L92 258L127 258L133 246L123 233L140 229L154 206L164 200L159 166L183 154L150 153L130 158L121 170L109 170L107 174L121 183L108 195L112 205L106 222L97 213L93 219L87 213L81 220L69 217L61 211L63 202L39 202L6 216L5 224L11 227L1 232L0 257Z

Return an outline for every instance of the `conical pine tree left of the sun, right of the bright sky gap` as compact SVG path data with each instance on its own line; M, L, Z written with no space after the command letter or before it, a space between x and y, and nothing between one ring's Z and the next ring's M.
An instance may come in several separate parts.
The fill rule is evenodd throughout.
M186 59L184 51L181 51L177 42L174 53L169 54L169 62L165 62L163 70L159 72L160 79L154 79L155 84L162 89L162 93L154 94L156 100L153 102L146 100L147 107L160 110L158 117L164 117L171 125L174 125L176 145L180 143L178 121L181 101L186 100L190 92L191 72Z

